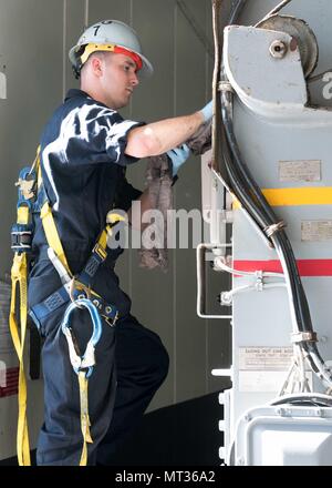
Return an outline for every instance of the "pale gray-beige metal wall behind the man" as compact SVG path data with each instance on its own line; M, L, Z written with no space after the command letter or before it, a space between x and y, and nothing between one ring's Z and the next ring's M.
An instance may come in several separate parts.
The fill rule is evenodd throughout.
M210 0L186 0L197 24L211 41ZM214 61L176 0L0 0L0 72L8 98L0 100L0 275L10 271L9 232L15 217L14 181L34 157L39 134L68 88L76 85L66 53L84 24L118 19L139 33L155 67L129 108L134 120L154 121L198 110L211 95ZM145 162L128 171L144 185ZM200 207L199 160L191 157L176 184L176 207ZM210 376L225 367L228 328L196 316L194 250L170 252L168 274L138 267L137 252L127 251L117 271L133 298L133 313L157 332L170 356L170 372L151 408L194 398L221 387Z

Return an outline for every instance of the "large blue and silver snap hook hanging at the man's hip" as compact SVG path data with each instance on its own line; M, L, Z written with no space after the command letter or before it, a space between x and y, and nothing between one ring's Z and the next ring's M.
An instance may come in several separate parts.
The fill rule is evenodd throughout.
M85 353L82 357L79 356L79 354L76 353L70 328L71 314L77 307L86 308L89 311L93 324L93 333L86 345ZM75 302L72 302L64 313L61 329L65 335L69 344L70 359L74 372L76 373L76 375L79 375L80 370L87 368L87 373L85 376L86 378L89 378L93 372L93 366L95 365L94 348L102 335L102 321L96 306L87 298L80 298Z

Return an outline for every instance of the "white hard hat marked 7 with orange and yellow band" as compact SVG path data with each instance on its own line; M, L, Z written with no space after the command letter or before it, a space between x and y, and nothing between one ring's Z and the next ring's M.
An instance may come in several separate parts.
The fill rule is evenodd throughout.
M139 67L142 62L139 73L143 77L153 74L153 65L145 55L143 55L136 32L124 22L118 20L103 20L89 27L83 32L77 44L69 52L70 61L77 75L80 75L80 71L89 55L95 51L113 51L124 52L128 55L132 54L135 61L139 62Z

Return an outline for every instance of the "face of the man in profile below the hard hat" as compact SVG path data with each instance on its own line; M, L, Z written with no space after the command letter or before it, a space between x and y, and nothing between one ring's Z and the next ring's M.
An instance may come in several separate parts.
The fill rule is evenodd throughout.
M103 87L106 105L121 109L129 103L134 89L137 87L137 67L132 58L125 54L106 53L103 60Z

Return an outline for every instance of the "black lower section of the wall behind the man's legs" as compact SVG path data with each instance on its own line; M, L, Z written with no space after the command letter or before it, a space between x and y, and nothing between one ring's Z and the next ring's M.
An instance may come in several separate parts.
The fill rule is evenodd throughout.
M143 417L114 466L219 466L224 445L218 393L172 405Z

